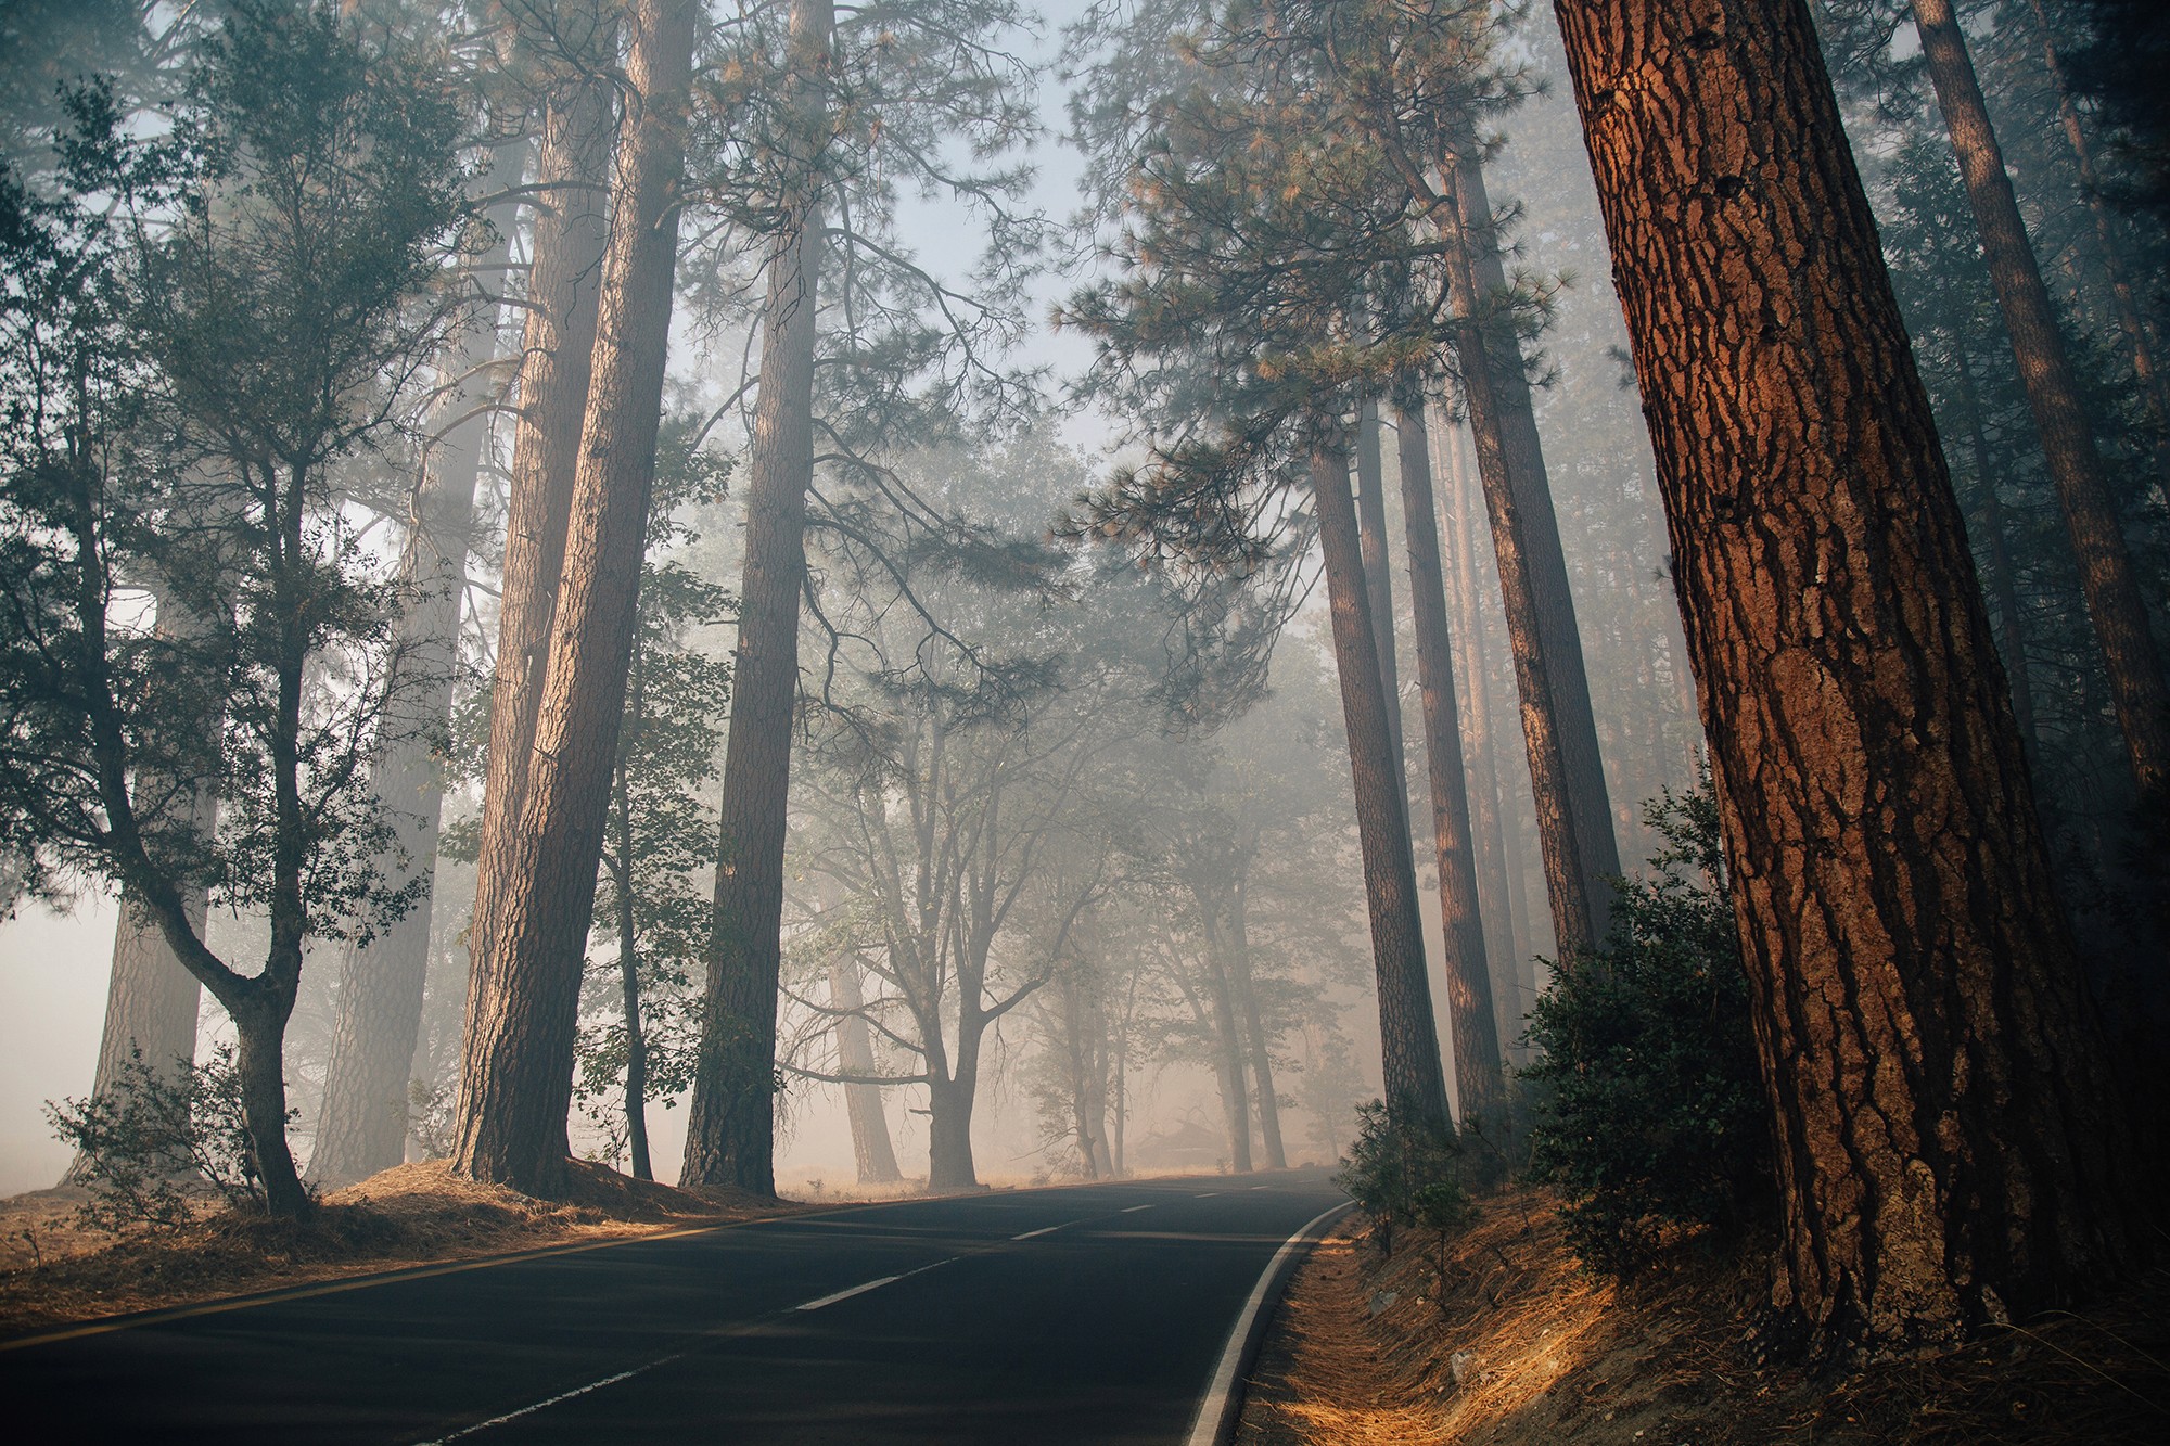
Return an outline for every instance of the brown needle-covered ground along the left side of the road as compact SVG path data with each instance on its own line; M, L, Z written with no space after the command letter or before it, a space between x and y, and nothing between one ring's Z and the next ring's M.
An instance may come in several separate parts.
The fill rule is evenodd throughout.
M404 1164L332 1190L306 1222L206 1203L169 1231L113 1235L78 1218L80 1188L0 1198L0 1337L312 1285L382 1270L603 1244L783 1216L809 1205L636 1181L575 1159L564 1201Z

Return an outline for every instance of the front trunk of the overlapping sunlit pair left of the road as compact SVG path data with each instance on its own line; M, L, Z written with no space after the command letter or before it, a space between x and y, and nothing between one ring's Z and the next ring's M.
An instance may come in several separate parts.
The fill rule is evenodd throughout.
M475 881L454 1168L564 1181L579 975L634 649L677 261L694 0L631 11L625 135L542 706L508 858Z

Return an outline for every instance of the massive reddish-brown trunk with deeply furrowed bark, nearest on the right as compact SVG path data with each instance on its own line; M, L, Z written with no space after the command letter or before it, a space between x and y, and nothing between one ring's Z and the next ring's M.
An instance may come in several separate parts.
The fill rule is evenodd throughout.
M2105 1077L1803 0L1562 0L1710 736L1786 1288L1942 1335L2111 1279Z

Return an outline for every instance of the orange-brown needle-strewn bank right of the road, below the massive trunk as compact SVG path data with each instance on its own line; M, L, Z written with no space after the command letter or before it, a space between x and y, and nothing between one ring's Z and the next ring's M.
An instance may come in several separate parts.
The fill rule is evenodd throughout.
M1749 1253L1758 1261L1764 1253ZM1632 1285L1582 1272L1554 1201L1486 1201L1393 1255L1350 1216L1259 1353L1243 1446L2118 1444L2170 1439L2170 1277L2085 1316L1816 1368L1771 1327L1764 1264L1682 1246Z

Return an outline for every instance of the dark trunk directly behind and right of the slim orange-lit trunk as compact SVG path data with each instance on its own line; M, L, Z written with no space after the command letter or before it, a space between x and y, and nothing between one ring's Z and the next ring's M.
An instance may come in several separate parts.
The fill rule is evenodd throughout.
M1530 373L1521 358L1521 343L1515 328L1504 317L1493 315L1493 297L1506 295L1506 267L1499 261L1499 239L1493 228L1491 200L1484 193L1484 167L1478 163L1478 145L1471 135L1456 141L1456 152L1445 165L1452 200L1456 204L1454 226L1460 241L1463 265L1452 267L1467 282L1463 382L1469 391L1469 421L1478 436L1478 471L1484 478L1484 506L1493 519L1493 549L1499 556L1499 584L1508 584L1508 554L1519 580L1517 593L1526 601L1508 608L1508 627L1528 634L1528 645L1515 640L1515 675L1523 684L1523 730L1530 727L1530 686L1541 686L1541 708L1549 714L1547 743L1530 743L1532 758L1539 747L1558 749L1558 806L1573 819L1575 853L1552 862L1552 849L1567 842L1562 829L1547 827L1547 873L1565 868L1567 858L1582 860L1582 899L1586 912L1586 934L1560 934L1556 947L1567 951L1584 947L1588 940L1606 936L1612 914L1612 888L1608 879L1621 871L1619 842L1612 834L1612 808L1606 801L1606 769L1597 749L1597 721L1591 712L1591 680L1582 660L1582 634L1575 627L1575 595L1567 584L1567 556L1560 551L1560 521L1552 508L1552 482L1545 475L1545 447L1536 434L1536 408L1530 399ZM1486 365L1471 367L1471 356L1484 356ZM1484 393L1486 421L1478 423L1478 391ZM1484 467L1486 434L1495 436L1497 458ZM1497 484L1493 475L1497 473ZM1502 543L1502 534L1510 534ZM1521 614L1521 621L1517 621ZM1523 651L1532 649L1541 667L1523 677ZM1534 777L1534 769L1532 769ZM1539 806L1543 827L1547 806ZM1554 903L1554 925L1558 927L1558 901ZM1578 921L1578 927L1580 925Z

